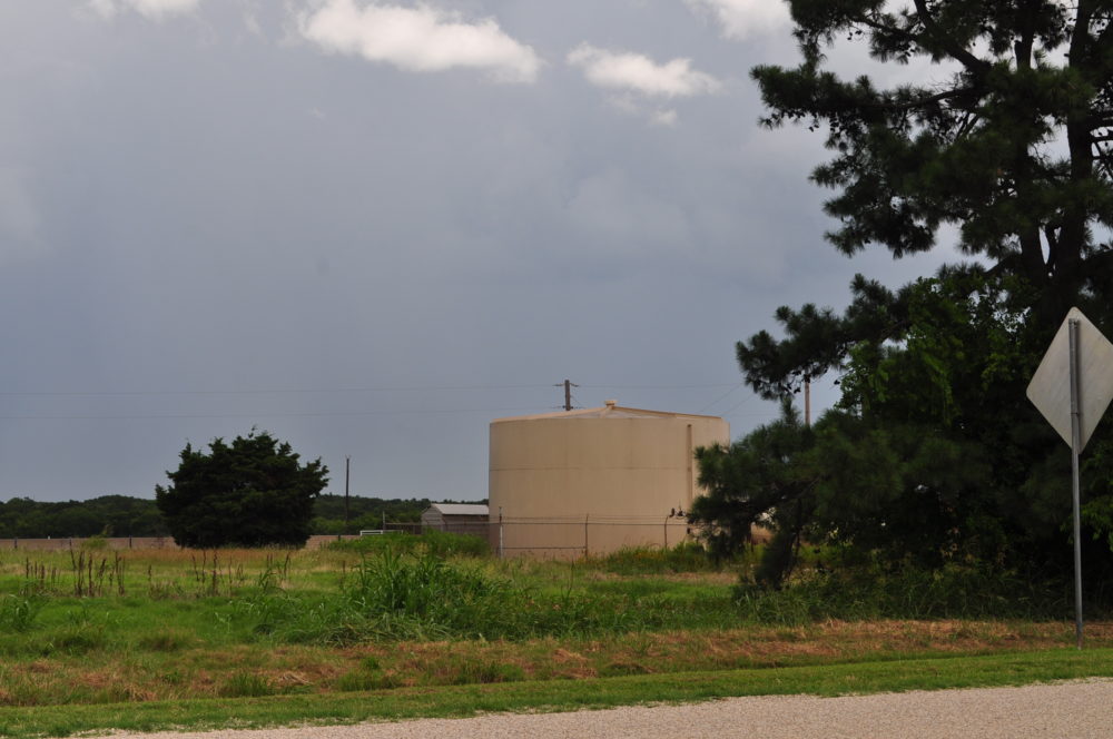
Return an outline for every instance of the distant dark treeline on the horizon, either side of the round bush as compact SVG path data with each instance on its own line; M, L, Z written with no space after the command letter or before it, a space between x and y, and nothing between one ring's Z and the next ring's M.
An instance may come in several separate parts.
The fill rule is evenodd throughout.
M456 501L439 501L452 503ZM472 502L475 501L460 501ZM417 522L429 499L382 499L352 495L348 525L344 525L344 496L321 495L314 508L313 533L358 533L388 522ZM42 503L29 497L0 502L0 539L59 539L65 536L168 536L155 501L127 495L101 495L87 501Z

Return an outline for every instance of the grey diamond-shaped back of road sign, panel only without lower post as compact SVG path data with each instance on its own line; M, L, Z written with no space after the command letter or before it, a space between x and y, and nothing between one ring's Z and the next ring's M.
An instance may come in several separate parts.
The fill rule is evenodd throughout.
M1071 445L1071 349L1068 325L1078 322L1078 408L1081 454L1097 422L1113 398L1113 344L1090 323L1082 311L1071 308L1058 327L1043 362L1028 383L1028 400Z

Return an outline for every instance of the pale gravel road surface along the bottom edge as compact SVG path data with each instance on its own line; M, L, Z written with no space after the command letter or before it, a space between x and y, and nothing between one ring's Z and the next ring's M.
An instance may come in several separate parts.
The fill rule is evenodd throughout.
M210 732L117 733L114 739L1025 739L1113 737L1113 680L1023 688L816 698L766 696L684 706L491 715L397 723Z

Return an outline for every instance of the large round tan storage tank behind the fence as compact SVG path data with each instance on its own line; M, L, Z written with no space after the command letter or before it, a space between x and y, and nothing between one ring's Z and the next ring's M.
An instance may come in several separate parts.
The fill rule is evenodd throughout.
M720 417L619 406L491 422L492 544L580 556L674 545L701 494L693 452L727 444Z

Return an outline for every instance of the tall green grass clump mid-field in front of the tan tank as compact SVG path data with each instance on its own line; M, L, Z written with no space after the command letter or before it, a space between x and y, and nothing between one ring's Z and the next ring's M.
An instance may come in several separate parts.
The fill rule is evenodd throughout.
M257 634L315 643L524 640L682 628L690 620L691 603L637 585L594 593L570 580L543 590L483 562L385 549L353 568L338 593L307 599L260 590L243 599L239 613Z

